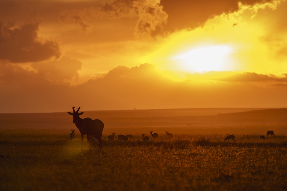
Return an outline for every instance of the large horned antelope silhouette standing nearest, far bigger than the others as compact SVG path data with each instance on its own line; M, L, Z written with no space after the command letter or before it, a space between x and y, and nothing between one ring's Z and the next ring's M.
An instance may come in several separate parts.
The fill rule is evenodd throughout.
M73 123L75 123L76 127L79 129L82 138L82 148L83 151L83 143L84 143L84 135L93 135L99 140L99 151L102 150L102 133L104 129L104 123L99 119L91 119L89 117L82 119L80 115L84 112L79 113L80 107L77 111L75 111L75 107L73 107L73 113L68 112L70 115L73 115ZM90 151L92 151L90 140L88 140L88 144L90 146Z

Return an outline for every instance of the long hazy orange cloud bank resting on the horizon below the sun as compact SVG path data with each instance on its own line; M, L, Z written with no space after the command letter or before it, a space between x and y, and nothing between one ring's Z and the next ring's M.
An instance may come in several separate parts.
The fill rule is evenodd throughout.
M79 66L80 64L77 64L77 67ZM72 73L68 76L71 77ZM133 68L118 66L103 78L91 79L77 86L68 86L53 83L40 72L27 71L17 65L2 63L0 112L68 111L71 106L79 106L86 111L287 106L285 98L287 89L283 83L286 78L274 81L270 76L259 74L251 74L251 78L249 74L233 75L237 80L230 77L224 81L198 79L174 81L170 78L170 72L160 71L152 64L142 64ZM247 79L273 80L274 86L259 87ZM278 82L281 85L278 85Z

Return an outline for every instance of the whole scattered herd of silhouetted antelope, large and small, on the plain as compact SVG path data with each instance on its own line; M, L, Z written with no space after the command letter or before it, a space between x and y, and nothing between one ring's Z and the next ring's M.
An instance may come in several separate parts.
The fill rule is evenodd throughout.
M68 113L70 115L73 115L73 123L75 123L76 127L79 129L81 133L81 138L82 138L81 152L83 151L84 135L87 135L87 141L90 146L90 151L92 151L91 145L97 144L97 142L99 142L98 150L100 151L102 149L102 132L104 129L104 123L99 119L91 119L89 117L84 118L84 119L80 118L79 116L82 115L84 112L79 113L79 110L80 110L80 107L77 109L77 111L75 111L75 107L73 107L73 113L71 112L68 112ZM70 139L73 139L75 130L71 130L71 131L72 133L70 133ZM168 133L168 131L165 131L165 132L166 132L167 137L172 137L172 133ZM114 144L115 134L116 133L112 132L112 135L108 136L109 144ZM152 135L153 140L158 140L157 133L153 133L153 131L150 131L150 134ZM141 135L142 135L143 142L150 141L150 137L144 136L146 134L141 134ZM266 136L268 137L268 135L274 136L274 132L267 131ZM117 141L121 141L121 140L127 141L132 138L133 138L132 135L118 135ZM246 138L250 139L250 136L247 135ZM260 140L263 140L263 141L265 140L265 137L263 135L260 135L259 138ZM225 141L229 142L229 140L236 142L234 135L228 135L224 139L224 142Z

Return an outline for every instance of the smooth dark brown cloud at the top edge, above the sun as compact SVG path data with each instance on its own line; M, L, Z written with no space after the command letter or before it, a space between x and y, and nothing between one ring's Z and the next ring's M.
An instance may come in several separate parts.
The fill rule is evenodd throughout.
M185 0L161 0L163 11L168 14L168 21L165 26L167 31L180 29L193 29L203 25L203 23L222 13L233 12L238 9L238 2L247 5L253 5L264 0L202 0L202 1L185 1Z

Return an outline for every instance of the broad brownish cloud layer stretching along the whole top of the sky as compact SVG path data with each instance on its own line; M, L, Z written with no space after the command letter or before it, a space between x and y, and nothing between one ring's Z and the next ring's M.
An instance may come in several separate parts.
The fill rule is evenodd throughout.
M134 25L135 36L140 37L146 34L156 36L203 25L214 15L236 11L238 2L252 5L267 1L161 0L158 4L155 1L146 0L41 1L40 3L16 0L0 2L0 18L15 21L27 17L36 9L42 21L57 22L56 19L59 19L74 22L84 31L89 31L92 27L96 30L96 21L104 20L106 23L113 23L113 20L125 18L125 23ZM134 19L137 21L135 22Z

